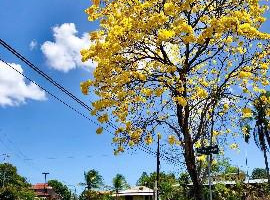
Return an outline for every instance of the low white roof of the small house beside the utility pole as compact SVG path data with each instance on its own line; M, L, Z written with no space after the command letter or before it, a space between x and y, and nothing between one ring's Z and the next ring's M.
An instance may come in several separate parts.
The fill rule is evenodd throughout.
M154 190L145 187L145 186L136 186L127 190L122 190L118 192L117 196L152 196L154 194ZM113 194L112 196L116 196Z

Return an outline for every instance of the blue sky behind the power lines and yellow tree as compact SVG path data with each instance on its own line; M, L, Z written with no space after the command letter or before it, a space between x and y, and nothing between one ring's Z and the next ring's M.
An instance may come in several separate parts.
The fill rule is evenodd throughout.
M93 64L87 64L88 70L80 66L82 64L74 55L80 45L73 49L71 44L78 41L83 45L84 33L98 26L88 22L83 12L89 5L90 1L85 0L0 1L0 38L85 102L89 102L91 96L84 97L79 86L81 81L91 77ZM269 22L266 23L264 30L270 27ZM71 59L62 58L62 51ZM24 74L85 112L2 47L0 56L8 63L21 65ZM70 67L63 69L67 62L71 62ZM50 66L52 64L55 66ZM9 74L7 77L12 78ZM15 78L10 86L19 85L14 82ZM27 81L20 81L24 85L18 90L5 88L7 94L15 95L12 102L0 104L0 154L10 154L9 162L16 165L31 183L42 182L41 173L48 171L49 179L77 185L83 180L83 172L94 168L100 171L107 184L116 173L122 173L134 185L143 171L155 170L155 158L144 152L113 156L109 134L97 136L96 125L45 96L38 88L30 87ZM35 94L29 94L31 89ZM264 166L263 156L254 144L247 151L250 169ZM244 149L227 155L234 164L244 165ZM162 170L179 170L164 162L161 164Z

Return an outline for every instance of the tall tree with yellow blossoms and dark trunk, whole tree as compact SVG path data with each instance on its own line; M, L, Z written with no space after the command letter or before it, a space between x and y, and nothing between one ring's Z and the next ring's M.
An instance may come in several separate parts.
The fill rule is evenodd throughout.
M81 89L99 97L91 114L118 127L115 153L161 132L183 150L202 199L195 146L237 131L269 85L266 10L259 0L93 1L85 12L100 28L81 55L97 66Z

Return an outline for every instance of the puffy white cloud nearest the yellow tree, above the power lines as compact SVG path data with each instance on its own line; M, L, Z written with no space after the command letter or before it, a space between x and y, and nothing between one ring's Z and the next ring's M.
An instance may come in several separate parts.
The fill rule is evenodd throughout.
M41 50L45 55L48 65L53 69L68 72L76 67L95 67L91 61L81 61L80 50L88 48L90 40L87 33L77 37L74 23L64 23L53 28L54 42L46 41Z

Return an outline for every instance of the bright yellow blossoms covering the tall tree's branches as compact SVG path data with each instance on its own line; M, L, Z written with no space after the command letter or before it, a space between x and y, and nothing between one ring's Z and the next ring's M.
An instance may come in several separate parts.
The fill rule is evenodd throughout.
M270 39L269 34L259 31L266 10L259 0L245 0L245 6L228 0L218 9L210 0L103 2L93 0L85 10L90 21L100 21L101 28L90 33L91 45L81 50L82 61L97 63L94 79L83 82L81 90L87 95L89 87L94 86L100 99L93 103L91 114L99 116L100 123L110 119L121 127L113 140L119 145L116 153L124 151L124 143L133 146L139 141L153 142L152 135L143 134L146 130L132 123L140 113L151 116L162 108L165 113L160 116L168 116L166 120L172 104L187 108L205 102L221 92L218 89L225 80L224 91L240 85L245 95L252 95L251 90L265 92L269 85L269 46L259 44L258 54L245 64L249 66L238 66L251 48L246 42ZM205 9L207 12L202 12ZM231 57L221 65L223 54L216 50L224 50ZM235 106L236 102L220 103L220 117ZM241 112L241 108L238 110ZM192 112L200 116L201 108ZM207 119L210 113L209 109ZM252 112L243 108L242 115L251 117ZM97 133L102 133L102 128ZM219 135L221 132L215 132L216 137ZM170 135L168 142L180 141Z

